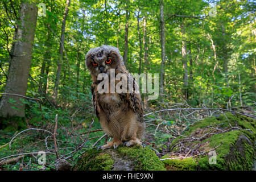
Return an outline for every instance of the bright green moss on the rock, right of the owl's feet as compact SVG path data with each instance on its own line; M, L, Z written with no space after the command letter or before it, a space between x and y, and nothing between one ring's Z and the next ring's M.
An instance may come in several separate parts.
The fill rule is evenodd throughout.
M134 170L141 171L165 171L164 164L159 160L155 152L148 147L118 147L118 153L128 156L134 162Z

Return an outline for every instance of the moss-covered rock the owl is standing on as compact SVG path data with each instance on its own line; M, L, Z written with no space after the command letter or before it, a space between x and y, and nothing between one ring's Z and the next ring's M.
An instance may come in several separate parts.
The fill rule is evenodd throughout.
M75 171L102 170L166 170L155 152L145 147L122 147L117 150L86 150L76 165Z

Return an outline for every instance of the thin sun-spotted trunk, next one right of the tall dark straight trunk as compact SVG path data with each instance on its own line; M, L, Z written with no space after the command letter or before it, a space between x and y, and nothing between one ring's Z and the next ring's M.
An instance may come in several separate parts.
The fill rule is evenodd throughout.
M185 100L188 99L188 60L187 60L187 42L185 41L185 25L181 24L181 35L182 35L182 46L181 46L181 55L182 55L182 65L183 65L183 94Z

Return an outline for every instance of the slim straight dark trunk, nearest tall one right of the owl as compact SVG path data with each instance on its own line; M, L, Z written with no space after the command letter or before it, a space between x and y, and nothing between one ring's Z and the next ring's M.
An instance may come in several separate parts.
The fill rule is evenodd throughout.
M164 64L166 62L166 32L164 22L164 5L163 0L160 0L160 38L161 38L161 69L160 69L160 94L164 94ZM160 100L162 101L163 96Z

